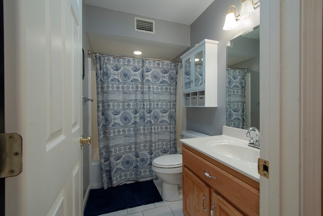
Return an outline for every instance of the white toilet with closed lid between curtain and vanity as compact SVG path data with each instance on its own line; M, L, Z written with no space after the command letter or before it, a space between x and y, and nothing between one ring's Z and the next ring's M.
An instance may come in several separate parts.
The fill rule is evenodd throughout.
M183 139L208 137L195 131L183 131ZM181 200L179 186L182 185L182 150L178 150L179 154L169 154L156 157L152 161L151 169L155 175L163 181L161 186L161 198L165 201Z

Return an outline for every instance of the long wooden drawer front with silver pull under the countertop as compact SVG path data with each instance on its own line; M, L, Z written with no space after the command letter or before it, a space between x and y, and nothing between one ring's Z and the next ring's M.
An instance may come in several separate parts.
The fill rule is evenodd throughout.
M259 215L259 191L257 189L185 148L183 148L183 166L189 168L242 213ZM204 170L216 179L206 177Z

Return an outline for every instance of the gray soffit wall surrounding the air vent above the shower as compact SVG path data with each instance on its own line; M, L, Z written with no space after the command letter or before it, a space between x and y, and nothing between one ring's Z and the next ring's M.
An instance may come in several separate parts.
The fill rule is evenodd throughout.
M155 21L155 33L142 34L141 32L134 31L133 17L151 19L149 17L137 16L90 5L86 5L86 8L87 19L85 22L86 30L88 32L126 36L186 47L190 45L189 25L152 19Z

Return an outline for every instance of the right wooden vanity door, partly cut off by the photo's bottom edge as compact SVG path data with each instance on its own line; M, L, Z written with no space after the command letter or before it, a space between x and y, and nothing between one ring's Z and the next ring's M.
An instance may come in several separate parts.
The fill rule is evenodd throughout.
M238 211L235 207L233 207L229 202L227 202L219 194L214 193L214 192L212 193L211 205L212 205L211 216L243 215L242 213L240 213L240 211Z

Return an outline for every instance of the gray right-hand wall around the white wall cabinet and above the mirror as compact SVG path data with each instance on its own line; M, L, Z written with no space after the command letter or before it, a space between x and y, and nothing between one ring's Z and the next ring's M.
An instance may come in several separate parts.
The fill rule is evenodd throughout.
M217 108L187 108L187 129L207 135L221 135L222 126L226 125L226 69L227 41L259 24L259 14L242 21L237 28L224 31L225 15L230 5L236 6L237 14L241 10L241 0L214 1L191 25L191 47L204 38L218 40L218 107ZM259 11L259 9L258 9ZM243 27L242 27L243 26Z

